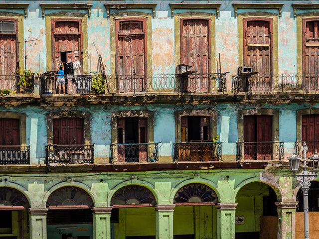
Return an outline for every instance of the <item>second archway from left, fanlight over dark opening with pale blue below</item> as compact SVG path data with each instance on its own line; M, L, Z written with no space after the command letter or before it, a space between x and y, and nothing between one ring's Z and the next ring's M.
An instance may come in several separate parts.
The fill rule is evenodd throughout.
M91 196L73 186L51 193L46 207L47 239L93 239Z

